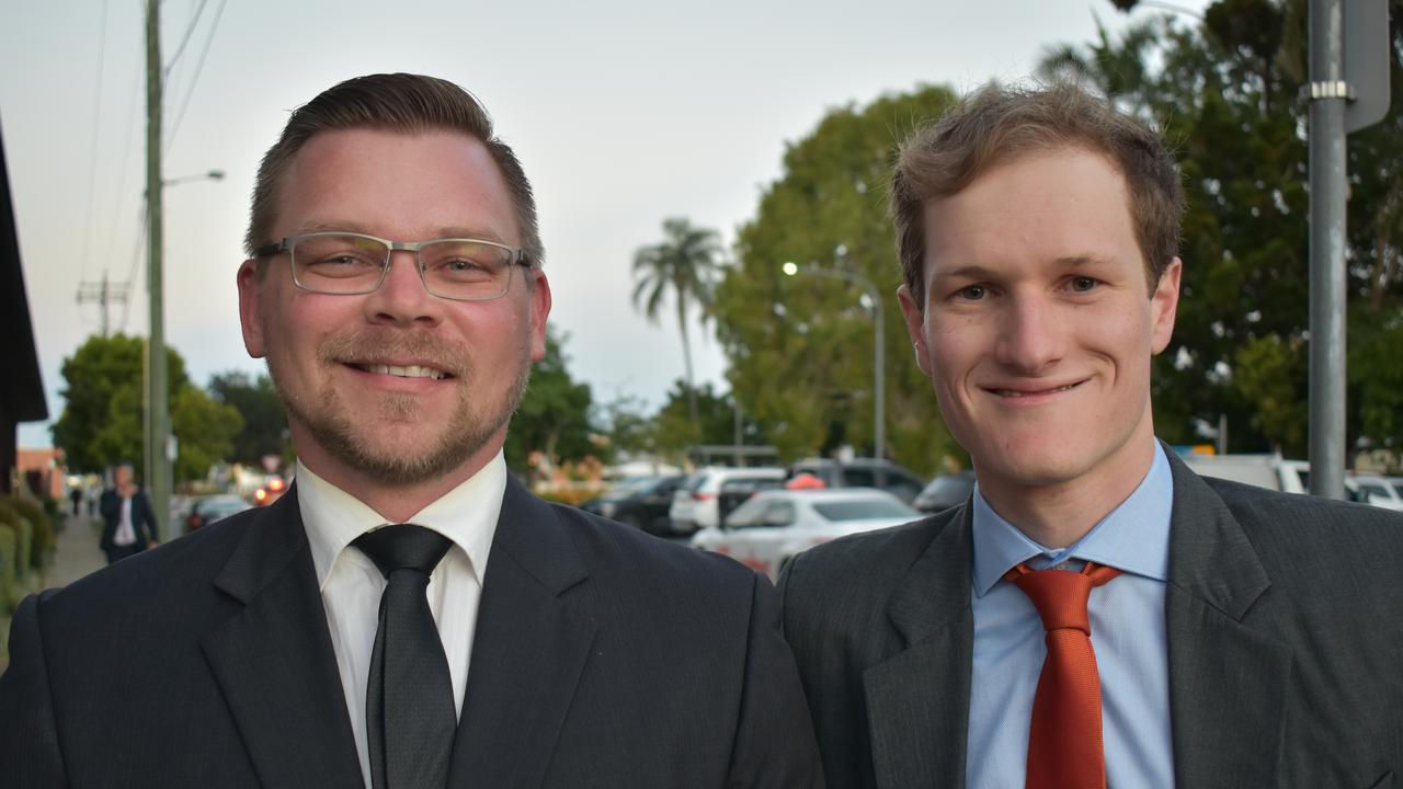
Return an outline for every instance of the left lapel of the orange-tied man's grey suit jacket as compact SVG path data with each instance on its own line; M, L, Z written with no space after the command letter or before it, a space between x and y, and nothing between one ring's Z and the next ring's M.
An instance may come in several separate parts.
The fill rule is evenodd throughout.
M957 510L887 606L905 649L863 672L877 785L964 786L974 619L971 507Z

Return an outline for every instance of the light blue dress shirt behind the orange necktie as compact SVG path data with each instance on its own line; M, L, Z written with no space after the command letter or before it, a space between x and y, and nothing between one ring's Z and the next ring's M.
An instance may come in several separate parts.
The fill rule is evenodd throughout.
M1135 493L1076 543L1048 549L974 493L974 674L965 785L1024 785L1033 696L1047 656L1042 622L1027 595L1003 580L1019 562L1034 570L1072 560L1122 570L1092 590L1087 612L1101 678L1101 738L1110 789L1172 788L1164 588L1174 483L1164 449Z

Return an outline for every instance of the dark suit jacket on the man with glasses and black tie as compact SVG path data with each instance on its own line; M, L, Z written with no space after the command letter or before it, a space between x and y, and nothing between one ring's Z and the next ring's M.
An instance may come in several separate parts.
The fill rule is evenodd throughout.
M365 785L296 490L28 598L10 649L6 786ZM449 786L819 772L767 580L508 483Z

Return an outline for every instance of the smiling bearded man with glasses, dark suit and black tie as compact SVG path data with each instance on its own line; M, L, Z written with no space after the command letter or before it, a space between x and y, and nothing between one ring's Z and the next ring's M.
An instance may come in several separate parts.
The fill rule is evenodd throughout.
M20 606L6 781L822 782L767 581L508 475L551 292L530 184L473 97L411 74L323 93L265 156L246 243L293 490Z

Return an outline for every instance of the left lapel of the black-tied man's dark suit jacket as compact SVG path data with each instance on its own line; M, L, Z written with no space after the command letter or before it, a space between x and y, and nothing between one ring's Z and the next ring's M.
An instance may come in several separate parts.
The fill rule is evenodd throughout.
M260 782L362 785L296 489L254 518L215 585L243 608L201 646Z

